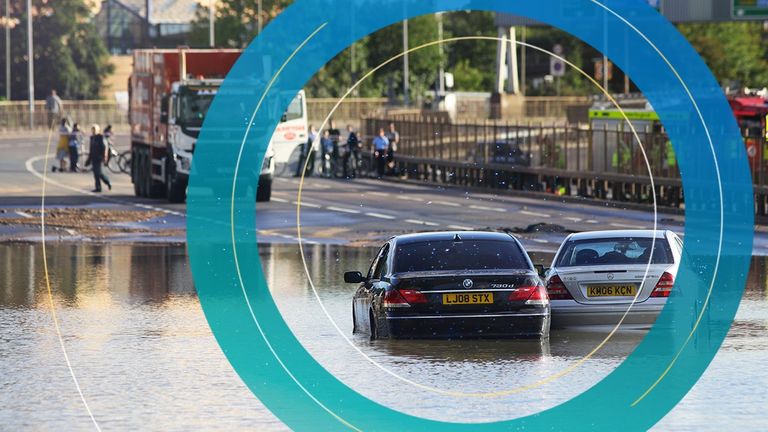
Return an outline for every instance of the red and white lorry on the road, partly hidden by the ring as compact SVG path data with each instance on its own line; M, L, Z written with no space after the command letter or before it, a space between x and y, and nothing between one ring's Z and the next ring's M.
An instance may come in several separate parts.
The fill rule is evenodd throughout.
M205 115L237 49L145 49L133 52L128 85L131 180L136 196L180 203L186 199L195 144ZM257 201L269 201L280 156L307 137L304 92L291 102L273 134L259 173Z

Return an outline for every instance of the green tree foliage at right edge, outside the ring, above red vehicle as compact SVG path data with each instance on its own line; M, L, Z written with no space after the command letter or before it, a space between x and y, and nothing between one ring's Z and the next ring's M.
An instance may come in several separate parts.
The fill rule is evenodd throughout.
M681 24L678 29L720 83L749 87L768 84L762 23Z

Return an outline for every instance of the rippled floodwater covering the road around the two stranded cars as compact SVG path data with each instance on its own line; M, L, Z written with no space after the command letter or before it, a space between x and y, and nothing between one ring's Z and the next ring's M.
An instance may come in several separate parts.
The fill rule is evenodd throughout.
M365 270L375 249L305 250L319 298L349 341L324 314L296 245L262 245L264 270L286 321L339 379L407 413L462 422L532 414L594 385L643 337L620 332L572 373L551 381L592 351L604 331L553 331L544 343L371 342L351 334L355 287L343 284L342 274ZM219 350L183 246L58 244L48 245L47 255L72 371L104 430L285 430ZM92 430L59 345L42 264L40 244L0 245L0 429ZM768 259L752 264L725 344L658 430L763 430L768 424ZM515 390L539 381L533 390ZM441 391L507 394L482 399L478 410L478 399Z

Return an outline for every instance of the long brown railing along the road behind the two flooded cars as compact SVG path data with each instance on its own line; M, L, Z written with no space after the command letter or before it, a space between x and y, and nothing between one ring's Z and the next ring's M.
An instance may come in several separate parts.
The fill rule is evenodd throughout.
M659 205L685 205L677 160L660 131L638 130L635 137L629 129L566 122L451 123L434 116L393 116L366 119L367 142L390 122L400 133L398 170L409 178L639 204L653 203L655 195ZM510 154L510 148L517 152ZM509 156L512 160L505 160ZM768 220L766 168L768 159L752 160L756 215L763 221Z

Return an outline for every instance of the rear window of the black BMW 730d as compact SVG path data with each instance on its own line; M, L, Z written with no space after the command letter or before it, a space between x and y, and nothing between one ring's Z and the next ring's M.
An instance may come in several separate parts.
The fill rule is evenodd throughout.
M395 273L450 270L529 269L514 240L416 242L398 245Z

